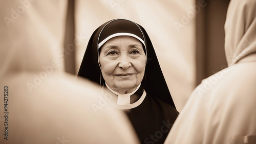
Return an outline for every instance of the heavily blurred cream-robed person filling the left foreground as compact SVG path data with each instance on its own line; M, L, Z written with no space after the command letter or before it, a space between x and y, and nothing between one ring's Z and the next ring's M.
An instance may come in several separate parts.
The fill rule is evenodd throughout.
M102 103L98 86L63 72L67 1L0 5L0 143L138 143L124 113Z

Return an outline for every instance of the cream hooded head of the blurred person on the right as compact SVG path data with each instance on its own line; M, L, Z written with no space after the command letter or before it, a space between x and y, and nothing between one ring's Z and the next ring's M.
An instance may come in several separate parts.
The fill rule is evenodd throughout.
M228 65L256 52L256 1L231 0L225 22L225 53Z

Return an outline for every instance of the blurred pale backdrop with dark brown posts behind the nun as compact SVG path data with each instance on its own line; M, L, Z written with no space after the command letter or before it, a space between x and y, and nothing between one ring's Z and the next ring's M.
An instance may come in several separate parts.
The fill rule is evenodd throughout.
M26 7L20 2L2 2L0 6L5 12L1 14L1 45L32 42L38 47L38 55L34 55L38 62L44 46L56 53L62 50L65 61L59 69L74 75L99 25L115 18L142 25L152 40L178 111L202 79L227 67L224 22L228 0L31 0ZM18 16L12 15L13 11ZM23 17L24 13L29 17ZM30 25L37 30L34 37L18 35ZM0 54L4 56L4 51Z

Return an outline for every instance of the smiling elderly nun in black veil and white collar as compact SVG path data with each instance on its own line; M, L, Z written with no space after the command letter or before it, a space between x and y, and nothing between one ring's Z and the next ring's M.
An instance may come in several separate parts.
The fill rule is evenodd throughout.
M78 76L98 83L109 103L127 113L142 143L164 142L179 112L142 26L126 19L99 26Z

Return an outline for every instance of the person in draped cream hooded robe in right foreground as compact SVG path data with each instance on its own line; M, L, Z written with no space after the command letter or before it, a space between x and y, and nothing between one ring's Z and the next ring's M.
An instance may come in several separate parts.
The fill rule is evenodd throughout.
M225 33L229 67L198 85L165 143L256 143L256 1L231 0Z

